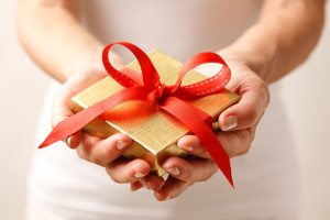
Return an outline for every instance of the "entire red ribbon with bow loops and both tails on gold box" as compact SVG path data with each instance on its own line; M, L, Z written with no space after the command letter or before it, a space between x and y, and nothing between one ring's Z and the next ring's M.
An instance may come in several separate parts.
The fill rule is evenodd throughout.
M109 62L108 55L110 48L114 44L120 44L129 48L134 54L140 64L143 80L138 78L136 73L131 69L121 69L125 73L123 74L122 72L113 68ZM102 61L109 75L125 87L125 89L59 122L46 140L38 146L40 148L66 139L82 129L97 117L107 120L105 111L124 101L151 101L178 119L185 127L198 136L200 143L206 147L218 167L224 174L226 178L233 186L230 158L211 130L211 117L187 102L187 100L218 92L228 84L231 75L230 69L218 54L206 52L189 58L183 66L179 77L174 86L166 86L162 84L160 81L157 70L147 55L141 48L131 43L118 42L109 44L103 50ZM213 77L193 85L182 86L182 80L189 70L206 63L222 64L222 68Z

